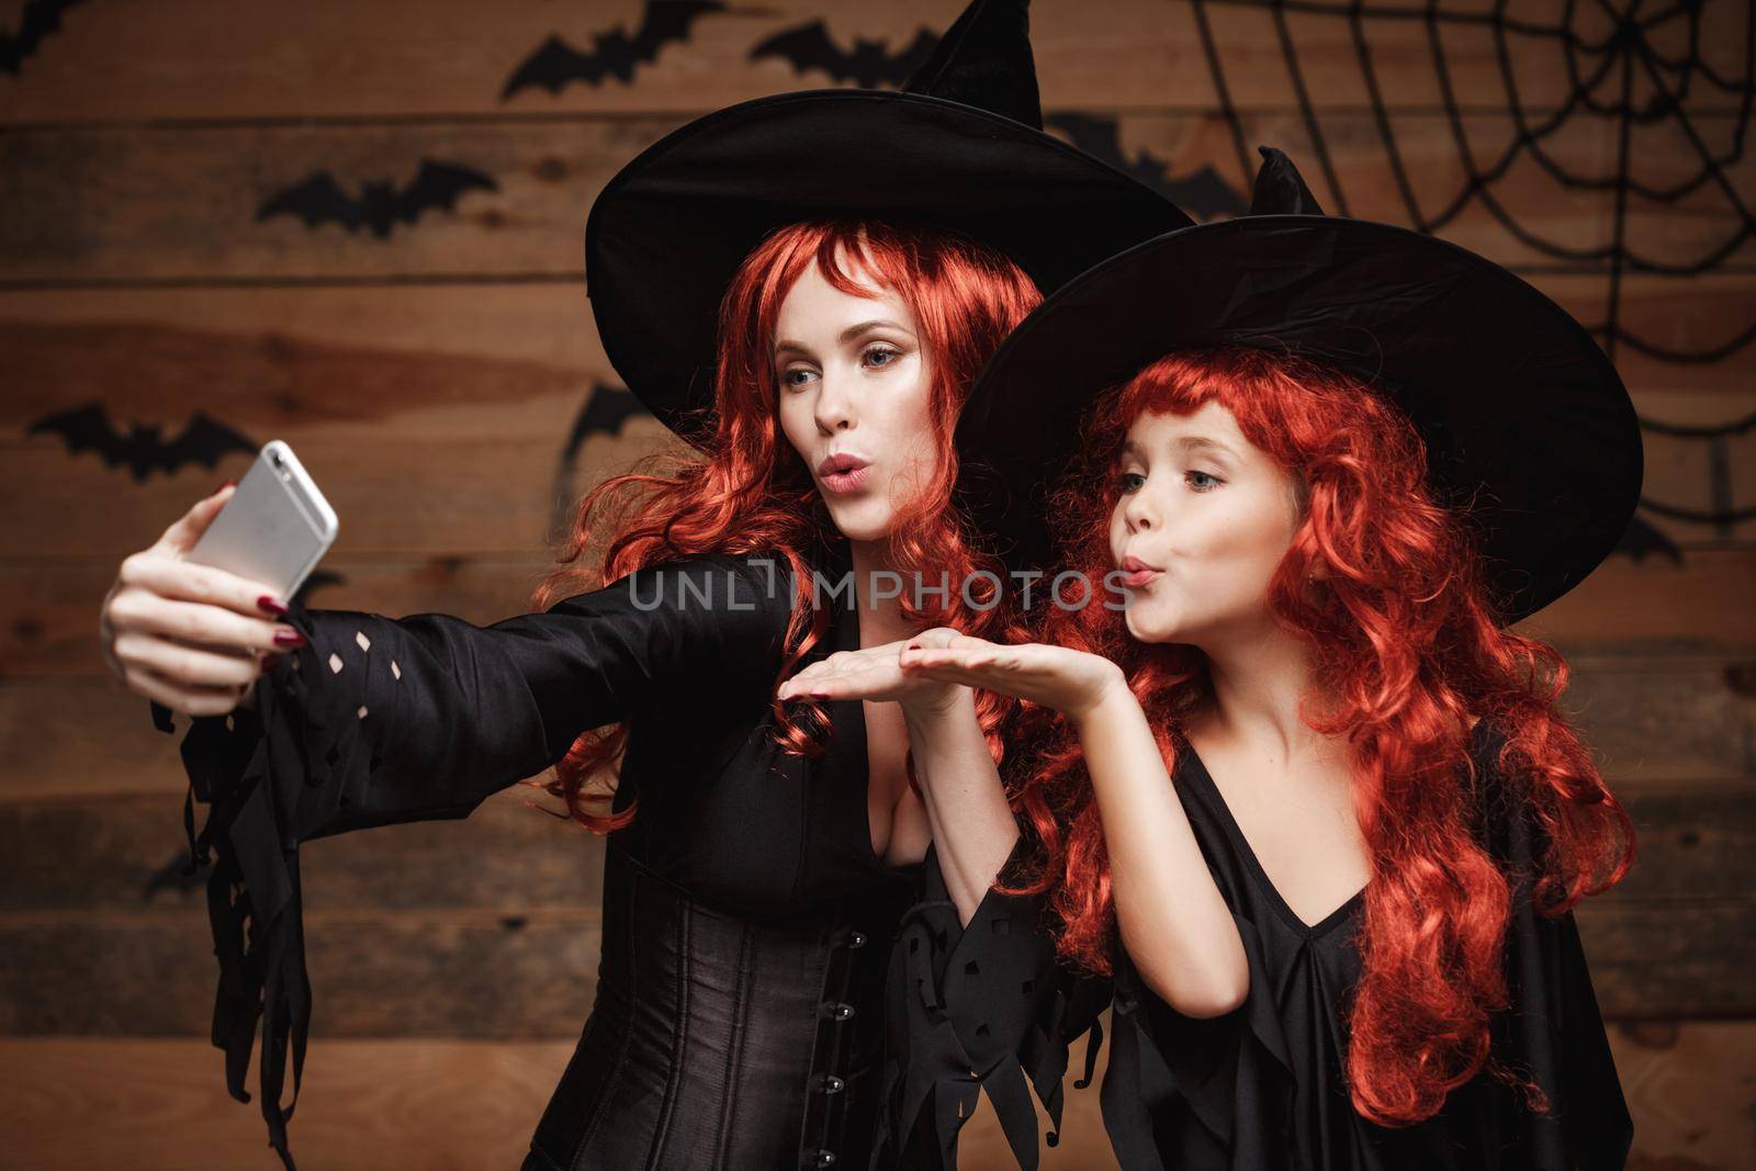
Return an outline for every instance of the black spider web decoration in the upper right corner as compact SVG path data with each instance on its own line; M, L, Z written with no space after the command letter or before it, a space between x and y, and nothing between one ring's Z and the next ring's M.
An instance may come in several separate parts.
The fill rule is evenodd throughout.
M1310 135L1312 154L1331 191L1331 211L1352 214L1349 191L1331 153L1322 119L1312 102L1305 61L1289 26L1298 19L1324 18L1345 25L1359 77L1370 105L1378 144L1389 162L1391 179L1403 221L1428 233L1456 226L1472 209L1486 214L1519 246L1542 258L1544 267L1565 274L1601 274L1607 279L1603 316L1587 321L1593 335L1614 362L1624 351L1679 367L1726 362L1756 341L1756 320L1709 344L1680 348L1659 344L1630 328L1623 302L1624 277L1652 274L1659 277L1696 277L1726 270L1730 262L1749 262L1756 249L1752 198L1733 183L1731 170L1744 160L1751 105L1756 98L1756 2L1714 0L1716 18L1740 19L1733 37L1719 25L1707 28L1709 0L1558 0L1552 5L1522 4L1512 11L1508 0L1421 0L1396 7L1396 0L1350 4L1333 0L1189 0L1201 51L1213 83L1219 112L1231 132L1240 174L1254 172L1252 146L1243 118L1233 102L1234 79L1227 77L1220 44L1213 32L1213 9L1249 9L1271 21L1275 39L1291 83L1298 116ZM1549 11L1551 18L1531 18L1531 11ZM1385 102L1384 84L1373 58L1371 35L1385 26L1419 26L1438 88L1443 121L1461 163L1459 188L1443 198L1421 198L1417 176L1398 139L1394 111ZM1498 100L1510 116L1510 133L1484 149L1466 128L1466 114L1457 93L1457 70L1450 56L1456 37L1472 44L1491 42L1493 67L1503 90ZM1528 98L1519 65L1536 61L1540 68L1565 72L1566 86L1556 102L1542 109ZM1730 61L1728 61L1730 58ZM1614 135L1610 163L1587 169L1570 163L1556 149L1570 128L1587 123L1589 132ZM1717 121L1712 130L1707 123ZM1640 174L1644 149L1651 135L1668 133L1668 149L1680 149L1688 160L1680 177L1652 181ZM1579 244L1556 239L1551 232L1519 218L1519 207L1501 193L1503 181L1515 165L1535 165L1556 186L1573 195L1598 195L1608 202L1605 239ZM1424 177L1424 176L1422 176ZM1431 183L1428 183L1431 188ZM1675 246L1652 248L1637 239L1638 212L1659 209L1668 216L1686 216L1691 241L1688 255ZM1382 218L1382 216L1371 216ZM1675 223L1675 219L1672 219ZM1740 265L1742 267L1742 265ZM1705 442L1709 446L1710 509L1689 509L1661 500L1642 504L1656 516L1693 525L1709 525L1716 535L1730 537L1731 527L1756 520L1756 509L1735 507L1731 500L1730 442L1756 427L1756 416L1723 427L1677 427L1651 418L1640 420L1651 435ZM1640 521L1637 521L1640 525ZM1647 530L1645 541L1658 534ZM1633 537L1633 534L1631 534ZM1663 541L1663 537L1659 537ZM1668 544L1668 541L1666 541ZM1675 546L1665 550L1675 555Z

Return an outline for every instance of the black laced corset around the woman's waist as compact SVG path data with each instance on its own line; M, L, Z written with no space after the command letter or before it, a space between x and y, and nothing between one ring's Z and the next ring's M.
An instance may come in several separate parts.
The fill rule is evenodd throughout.
M896 881L752 920L611 843L597 1004L523 1171L864 1166L887 952L911 895Z

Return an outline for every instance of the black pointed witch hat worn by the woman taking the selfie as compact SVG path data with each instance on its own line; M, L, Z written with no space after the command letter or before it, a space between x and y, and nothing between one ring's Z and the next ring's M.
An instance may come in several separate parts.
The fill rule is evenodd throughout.
M1045 293L1189 226L1162 195L1043 133L1027 0L973 0L894 90L743 102L623 167L585 225L585 279L611 365L666 427L699 437L715 327L738 265L773 230L867 218L997 248Z

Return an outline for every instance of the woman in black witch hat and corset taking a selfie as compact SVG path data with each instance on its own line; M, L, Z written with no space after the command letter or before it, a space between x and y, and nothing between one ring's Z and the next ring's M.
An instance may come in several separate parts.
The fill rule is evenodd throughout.
M262 1106L288 1166L281 1073L290 1036L297 1096L309 1018L297 843L464 816L548 765L572 816L615 836L599 997L527 1169L867 1157L873 957L911 902L927 816L896 709L795 716L773 693L836 650L1008 621L961 592L885 599L866 571L955 581L996 564L950 507L969 381L1036 286L1187 223L1040 125L1024 5L978 0L906 91L718 111L606 186L587 225L599 332L702 451L587 499L565 557L608 528L599 590L548 604L583 586L564 571L544 613L486 629L299 606L272 623L251 583L177 560L223 493L125 562L104 611L112 665L198 716L184 760L212 804L216 1043L244 1099L263 1017ZM850 569L852 593L817 606L813 578ZM258 676L237 651L288 629L309 644L255 711L223 716ZM918 690L924 718L959 718L918 762L992 767L1003 700ZM611 808L594 811L585 785L616 753Z

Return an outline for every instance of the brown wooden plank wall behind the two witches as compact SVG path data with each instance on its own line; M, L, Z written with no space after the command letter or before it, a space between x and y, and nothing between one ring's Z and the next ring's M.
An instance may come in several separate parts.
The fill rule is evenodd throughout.
M843 46L903 46L959 7L729 5L629 79L506 97L546 39L590 51L595 33L632 32L641 5L86 0L40 44L0 39L0 1162L274 1166L256 1106L225 1096L205 1041L214 964L179 874L181 730L155 732L98 657L118 562L281 437L344 518L314 606L478 623L527 609L560 509L664 435L636 416L569 439L595 395L620 393L581 272L595 191L699 112L838 84L753 60L766 37L824 18ZM1096 119L1157 181L1212 167L1177 188L1198 211L1247 190L1240 140L1273 142L1329 209L1398 223L1410 209L1385 130L1433 216L1466 190L1459 142L1486 169L1514 140L1512 91L1556 116L1547 165L1515 151L1440 233L1645 342L1616 358L1642 414L1672 425L1647 434L1652 506L1623 553L1529 625L1570 653L1570 702L1642 832L1630 880L1579 915L1637 1120L1633 1166L1756 1166L1756 525L1738 516L1756 502L1756 439L1673 434L1756 411L1738 344L1756 328L1749 5L1705 2L1707 68L1661 68L1689 75L1670 107L1652 104L1633 49L1688 53L1679 9L1647 5L1658 19L1640 42L1610 37L1624 0L1515 0L1526 28L1565 7L1596 21L1579 28L1596 49L1575 54L1603 67L1586 102L1570 100L1561 42L1496 42L1470 18L1486 0L1442 4L1433 23L1407 0L1357 26L1329 7L1280 23L1238 2L1040 0L1045 107L1064 126ZM0 5L0 28L23 30L25 9ZM1651 114L1626 139L1624 119L1593 112L1624 77ZM1724 167L1705 172L1703 151ZM316 172L358 193L406 184L425 158L492 183L385 235L256 216ZM1647 195L1565 181L1614 176L1623 158ZM1714 263L1695 274L1645 263L1703 255ZM88 404L104 428L142 428L135 462L40 427ZM239 441L155 458L198 414ZM592 1002L601 853L520 799L306 851L316 1020L291 1125L300 1166L522 1157ZM1069 1103L1048 1166L1112 1166L1096 1092ZM1011 1166L987 1118L969 1134L964 1167Z

